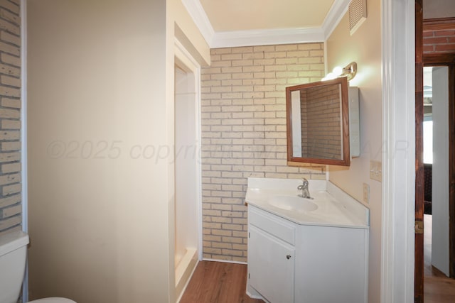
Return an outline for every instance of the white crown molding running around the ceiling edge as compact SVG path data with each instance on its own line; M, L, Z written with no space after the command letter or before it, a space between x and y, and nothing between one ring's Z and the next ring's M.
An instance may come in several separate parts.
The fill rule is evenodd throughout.
M210 48L324 42L343 18L350 0L335 0L320 28L275 28L215 32L199 0L182 0Z

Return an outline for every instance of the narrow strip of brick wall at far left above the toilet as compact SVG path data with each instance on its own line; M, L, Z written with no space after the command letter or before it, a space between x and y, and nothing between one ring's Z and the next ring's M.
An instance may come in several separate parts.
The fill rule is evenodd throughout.
M0 233L22 222L20 2L0 2Z

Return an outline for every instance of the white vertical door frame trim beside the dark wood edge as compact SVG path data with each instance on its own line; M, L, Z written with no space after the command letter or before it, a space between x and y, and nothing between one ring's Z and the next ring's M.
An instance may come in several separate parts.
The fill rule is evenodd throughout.
M382 3L380 302L414 301L415 3ZM372 286L373 287L373 286Z

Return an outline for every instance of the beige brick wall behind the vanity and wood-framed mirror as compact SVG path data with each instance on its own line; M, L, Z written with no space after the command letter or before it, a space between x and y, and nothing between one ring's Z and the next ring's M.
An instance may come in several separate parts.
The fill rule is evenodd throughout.
M202 70L203 255L247 260L247 177L325 179L287 166L285 87L323 77L323 43L212 50Z

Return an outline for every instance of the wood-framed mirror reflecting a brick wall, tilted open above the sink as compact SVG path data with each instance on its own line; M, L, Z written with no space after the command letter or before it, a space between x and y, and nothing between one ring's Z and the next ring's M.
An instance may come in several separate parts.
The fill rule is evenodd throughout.
M350 165L348 80L286 88L288 165Z

